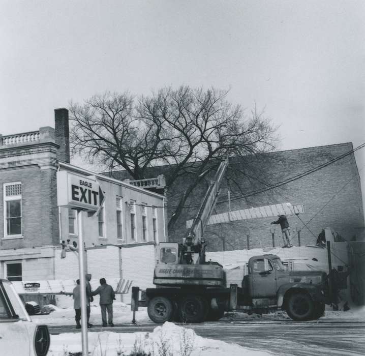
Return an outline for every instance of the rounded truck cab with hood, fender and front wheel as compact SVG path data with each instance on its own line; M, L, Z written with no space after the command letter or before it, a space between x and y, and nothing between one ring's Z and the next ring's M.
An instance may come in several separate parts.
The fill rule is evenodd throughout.
M297 321L322 315L325 272L287 271L279 256L272 254L251 257L248 268L249 273L242 280L242 309L282 308Z

